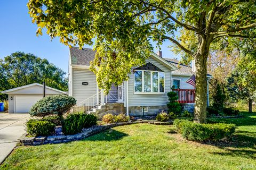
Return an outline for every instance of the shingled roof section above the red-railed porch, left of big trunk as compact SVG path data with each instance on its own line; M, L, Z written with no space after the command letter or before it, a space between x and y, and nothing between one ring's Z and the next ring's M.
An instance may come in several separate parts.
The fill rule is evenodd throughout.
M185 65L185 64L179 64L179 61L173 58L164 58L169 63L172 63L175 65L178 69L173 71L173 75L193 75L195 72L192 71L192 67Z

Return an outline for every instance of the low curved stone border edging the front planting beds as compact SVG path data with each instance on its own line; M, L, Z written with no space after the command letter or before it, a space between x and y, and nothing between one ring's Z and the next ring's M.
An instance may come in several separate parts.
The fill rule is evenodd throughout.
M157 122L157 121L136 121L136 122L124 122L124 123L111 123L106 125L99 125L93 129L85 129L81 133L73 134L73 135L53 135L49 137L26 137L27 133L23 134L19 142L23 146L36 146L36 145L44 145L48 143L66 143L76 140L81 140L87 138L93 134L97 134L99 132L105 131L109 128L114 128L116 126L123 126L129 124L137 124L137 123L148 123L155 125L170 125L173 122Z

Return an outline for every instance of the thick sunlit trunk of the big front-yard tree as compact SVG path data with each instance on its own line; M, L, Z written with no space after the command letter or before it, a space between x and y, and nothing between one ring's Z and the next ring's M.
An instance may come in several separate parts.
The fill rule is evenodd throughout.
M199 45L197 48L196 59L196 96L194 122L206 122L207 107L207 57L209 55L210 40L198 37Z

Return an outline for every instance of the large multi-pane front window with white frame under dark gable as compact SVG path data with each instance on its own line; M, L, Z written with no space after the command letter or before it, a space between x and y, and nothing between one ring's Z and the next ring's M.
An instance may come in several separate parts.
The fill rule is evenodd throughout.
M164 92L164 72L135 70L134 92Z

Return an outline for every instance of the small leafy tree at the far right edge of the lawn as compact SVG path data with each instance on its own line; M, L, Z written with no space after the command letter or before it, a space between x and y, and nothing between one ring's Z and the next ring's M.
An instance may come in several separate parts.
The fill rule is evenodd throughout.
M249 112L252 112L252 103L256 99L256 72L251 70L251 56L243 56L236 69L227 79L227 90L234 100L245 99L249 103Z

